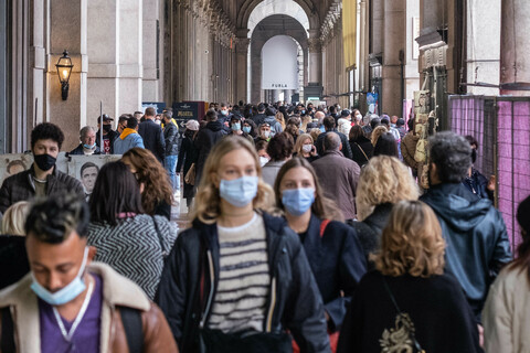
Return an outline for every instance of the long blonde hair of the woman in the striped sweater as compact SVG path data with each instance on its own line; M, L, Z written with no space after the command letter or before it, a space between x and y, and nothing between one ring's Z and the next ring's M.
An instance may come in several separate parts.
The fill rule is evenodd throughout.
M221 215L221 196L219 194L219 188L215 186L214 174L220 169L222 158L226 156L226 153L237 149L245 149L252 156L259 178L257 195L253 200L253 207L267 212L274 210L274 192L273 189L262 180L262 167L254 147L245 138L227 136L218 142L208 156L201 183L197 191L195 208L192 212L192 220L198 218L202 223L213 224Z

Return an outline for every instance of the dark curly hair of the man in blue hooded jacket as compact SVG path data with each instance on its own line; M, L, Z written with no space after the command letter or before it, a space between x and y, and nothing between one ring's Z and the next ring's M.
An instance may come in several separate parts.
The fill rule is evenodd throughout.
M464 137L443 131L431 137L428 146L442 183L459 183L466 178L471 167L471 146Z

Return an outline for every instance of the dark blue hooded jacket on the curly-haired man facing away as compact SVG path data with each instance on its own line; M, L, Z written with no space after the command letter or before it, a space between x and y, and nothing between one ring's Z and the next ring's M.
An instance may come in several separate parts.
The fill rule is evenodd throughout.
M432 186L420 200L438 217L447 243L445 268L479 320L489 286L512 259L505 221L491 201L478 199L462 183Z

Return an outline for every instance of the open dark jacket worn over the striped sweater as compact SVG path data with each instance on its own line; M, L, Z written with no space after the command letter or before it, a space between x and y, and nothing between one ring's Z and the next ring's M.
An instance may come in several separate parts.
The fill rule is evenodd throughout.
M298 235L282 218L264 213L263 221L272 279L264 328L276 334L289 330L303 353L330 352L322 299ZM199 331L208 328L215 297L219 257L216 225L198 221L179 235L168 257L156 301L180 352L199 352Z

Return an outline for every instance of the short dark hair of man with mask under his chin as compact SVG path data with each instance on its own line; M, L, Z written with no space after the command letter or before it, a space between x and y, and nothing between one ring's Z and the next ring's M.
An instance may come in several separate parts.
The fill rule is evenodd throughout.
M76 194L59 193L38 199L30 208L25 234L49 244L63 243L73 231L81 237L88 234L89 211Z

